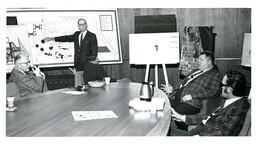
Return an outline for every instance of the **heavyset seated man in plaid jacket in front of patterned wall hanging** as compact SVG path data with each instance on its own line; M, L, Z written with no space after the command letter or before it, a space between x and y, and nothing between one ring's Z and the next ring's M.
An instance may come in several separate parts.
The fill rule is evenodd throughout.
M201 52L199 69L192 71L175 89L162 85L170 94L171 106L180 114L195 115L200 112L202 100L215 99L220 89L221 75L214 64L212 52ZM180 129L187 130L184 123L176 123Z

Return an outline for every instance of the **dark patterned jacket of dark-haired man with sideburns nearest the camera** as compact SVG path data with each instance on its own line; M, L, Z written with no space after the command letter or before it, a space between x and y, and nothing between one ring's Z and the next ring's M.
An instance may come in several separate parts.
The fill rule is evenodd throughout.
M243 97L227 107L218 110L204 125L200 123L189 133L201 136L235 136L243 127L249 109L247 98Z

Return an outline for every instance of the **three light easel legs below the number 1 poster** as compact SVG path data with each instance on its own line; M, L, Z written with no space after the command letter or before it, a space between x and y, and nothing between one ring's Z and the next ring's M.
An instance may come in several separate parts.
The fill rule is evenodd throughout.
M168 76L167 76L165 64L162 64L162 67L163 67L163 72L164 72L165 85L168 86L169 82L168 82ZM150 68L150 64L147 64L146 72L145 72L145 79L144 79L145 82L148 82L149 68ZM158 88L158 65L157 64L155 64L155 86L156 86L156 88Z

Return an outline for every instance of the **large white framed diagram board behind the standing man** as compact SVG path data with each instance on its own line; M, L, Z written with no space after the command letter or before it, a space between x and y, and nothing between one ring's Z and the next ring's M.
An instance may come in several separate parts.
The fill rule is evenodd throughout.
M122 63L119 32L115 10L105 11L9 11L16 16L19 25L25 25L33 62L41 66L73 65L73 42L42 42L44 37L72 35L78 31L77 20L87 20L88 30L95 33L98 40L100 64ZM14 34L15 35L15 34Z

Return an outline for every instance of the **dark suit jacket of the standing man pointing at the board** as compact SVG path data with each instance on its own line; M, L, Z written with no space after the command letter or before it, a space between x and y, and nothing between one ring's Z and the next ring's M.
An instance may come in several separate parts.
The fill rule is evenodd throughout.
M81 47L79 46L79 34L76 31L72 35L55 37L57 42L74 42L75 56L74 66L77 71L83 71L85 64L88 61L95 60L98 55L98 43L96 35L87 30L84 39L82 40Z

